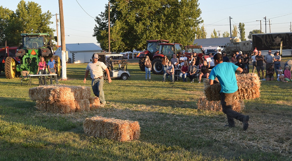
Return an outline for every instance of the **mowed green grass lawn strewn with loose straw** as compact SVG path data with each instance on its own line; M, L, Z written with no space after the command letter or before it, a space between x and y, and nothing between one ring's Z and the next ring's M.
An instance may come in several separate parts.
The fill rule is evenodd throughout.
M68 80L60 83L91 86L89 77L83 83L85 68L68 64ZM239 121L235 128L223 127L223 112L197 110L203 83L161 82L161 75L145 81L135 62L128 71L128 80L104 84L105 107L74 114L37 111L29 86L1 72L0 160L292 159L292 83L262 81L261 97L244 100L242 113L250 121L243 131ZM37 85L33 79L32 87ZM96 115L138 121L140 139L117 142L85 135L84 119Z

